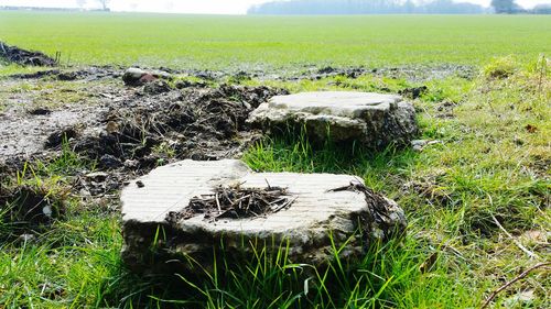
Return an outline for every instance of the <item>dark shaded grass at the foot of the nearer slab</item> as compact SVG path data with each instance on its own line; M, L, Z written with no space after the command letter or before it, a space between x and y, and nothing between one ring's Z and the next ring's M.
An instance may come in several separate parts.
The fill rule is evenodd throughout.
M403 256L398 241L372 244L359 260L338 258L317 268L293 264L289 246L266 247L242 256L213 251L216 263L205 269L194 261L197 274L143 276L119 265L101 286L98 307L117 308L355 308L391 305L391 289L399 269L395 256ZM411 258L411 263L414 258Z

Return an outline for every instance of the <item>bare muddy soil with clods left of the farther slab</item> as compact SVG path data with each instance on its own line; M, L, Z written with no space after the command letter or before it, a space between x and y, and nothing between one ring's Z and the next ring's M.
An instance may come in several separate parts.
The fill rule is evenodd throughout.
M82 170L74 188L84 196L104 196L158 165L239 156L260 136L245 122L249 113L285 92L203 84L177 89L162 80L126 87L121 73L91 67L0 79L3 173L25 162L48 162L69 148L106 173L89 177L89 170ZM76 101L60 103L68 96Z

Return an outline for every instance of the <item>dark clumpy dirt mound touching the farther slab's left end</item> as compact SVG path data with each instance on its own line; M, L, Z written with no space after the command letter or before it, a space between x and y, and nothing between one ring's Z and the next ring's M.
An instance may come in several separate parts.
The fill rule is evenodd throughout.
M74 148L100 165L121 162L137 168L163 159L233 157L258 136L246 124L249 113L280 92L238 86L139 91L110 108L99 132L75 139Z

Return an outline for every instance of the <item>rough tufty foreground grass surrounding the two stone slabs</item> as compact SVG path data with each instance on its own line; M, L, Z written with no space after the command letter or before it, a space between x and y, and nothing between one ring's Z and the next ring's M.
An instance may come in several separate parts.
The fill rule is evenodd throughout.
M494 74L511 62L508 77ZM358 175L404 208L407 236L374 245L356 263L315 272L290 264L282 246L233 267L220 258L203 278L176 277L166 287L160 284L165 277L137 276L121 265L111 205L69 198L65 217L36 239L0 243L0 307L477 308L491 290L550 260L550 77L541 60L512 57L489 63L475 80L428 82L429 91L414 100L421 137L442 143L422 152L352 153L313 147L300 135L251 147L244 159L253 169ZM374 76L269 84L291 91L419 86ZM65 148L60 158L32 166L20 183L64 191L75 170L94 163ZM538 257L526 255L493 218ZM549 269L539 269L499 294L494 306L545 308L550 288ZM522 291L533 291L533 299L511 304Z

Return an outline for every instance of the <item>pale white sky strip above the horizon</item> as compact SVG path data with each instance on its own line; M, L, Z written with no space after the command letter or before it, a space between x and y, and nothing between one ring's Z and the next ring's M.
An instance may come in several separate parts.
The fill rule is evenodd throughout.
M111 0L112 11L170 12L192 14L245 14L250 5L270 0ZM489 5L491 0L455 0ZM88 8L97 7L96 0L87 1ZM551 0L517 0L525 8ZM75 8L76 0L0 0L0 5Z

